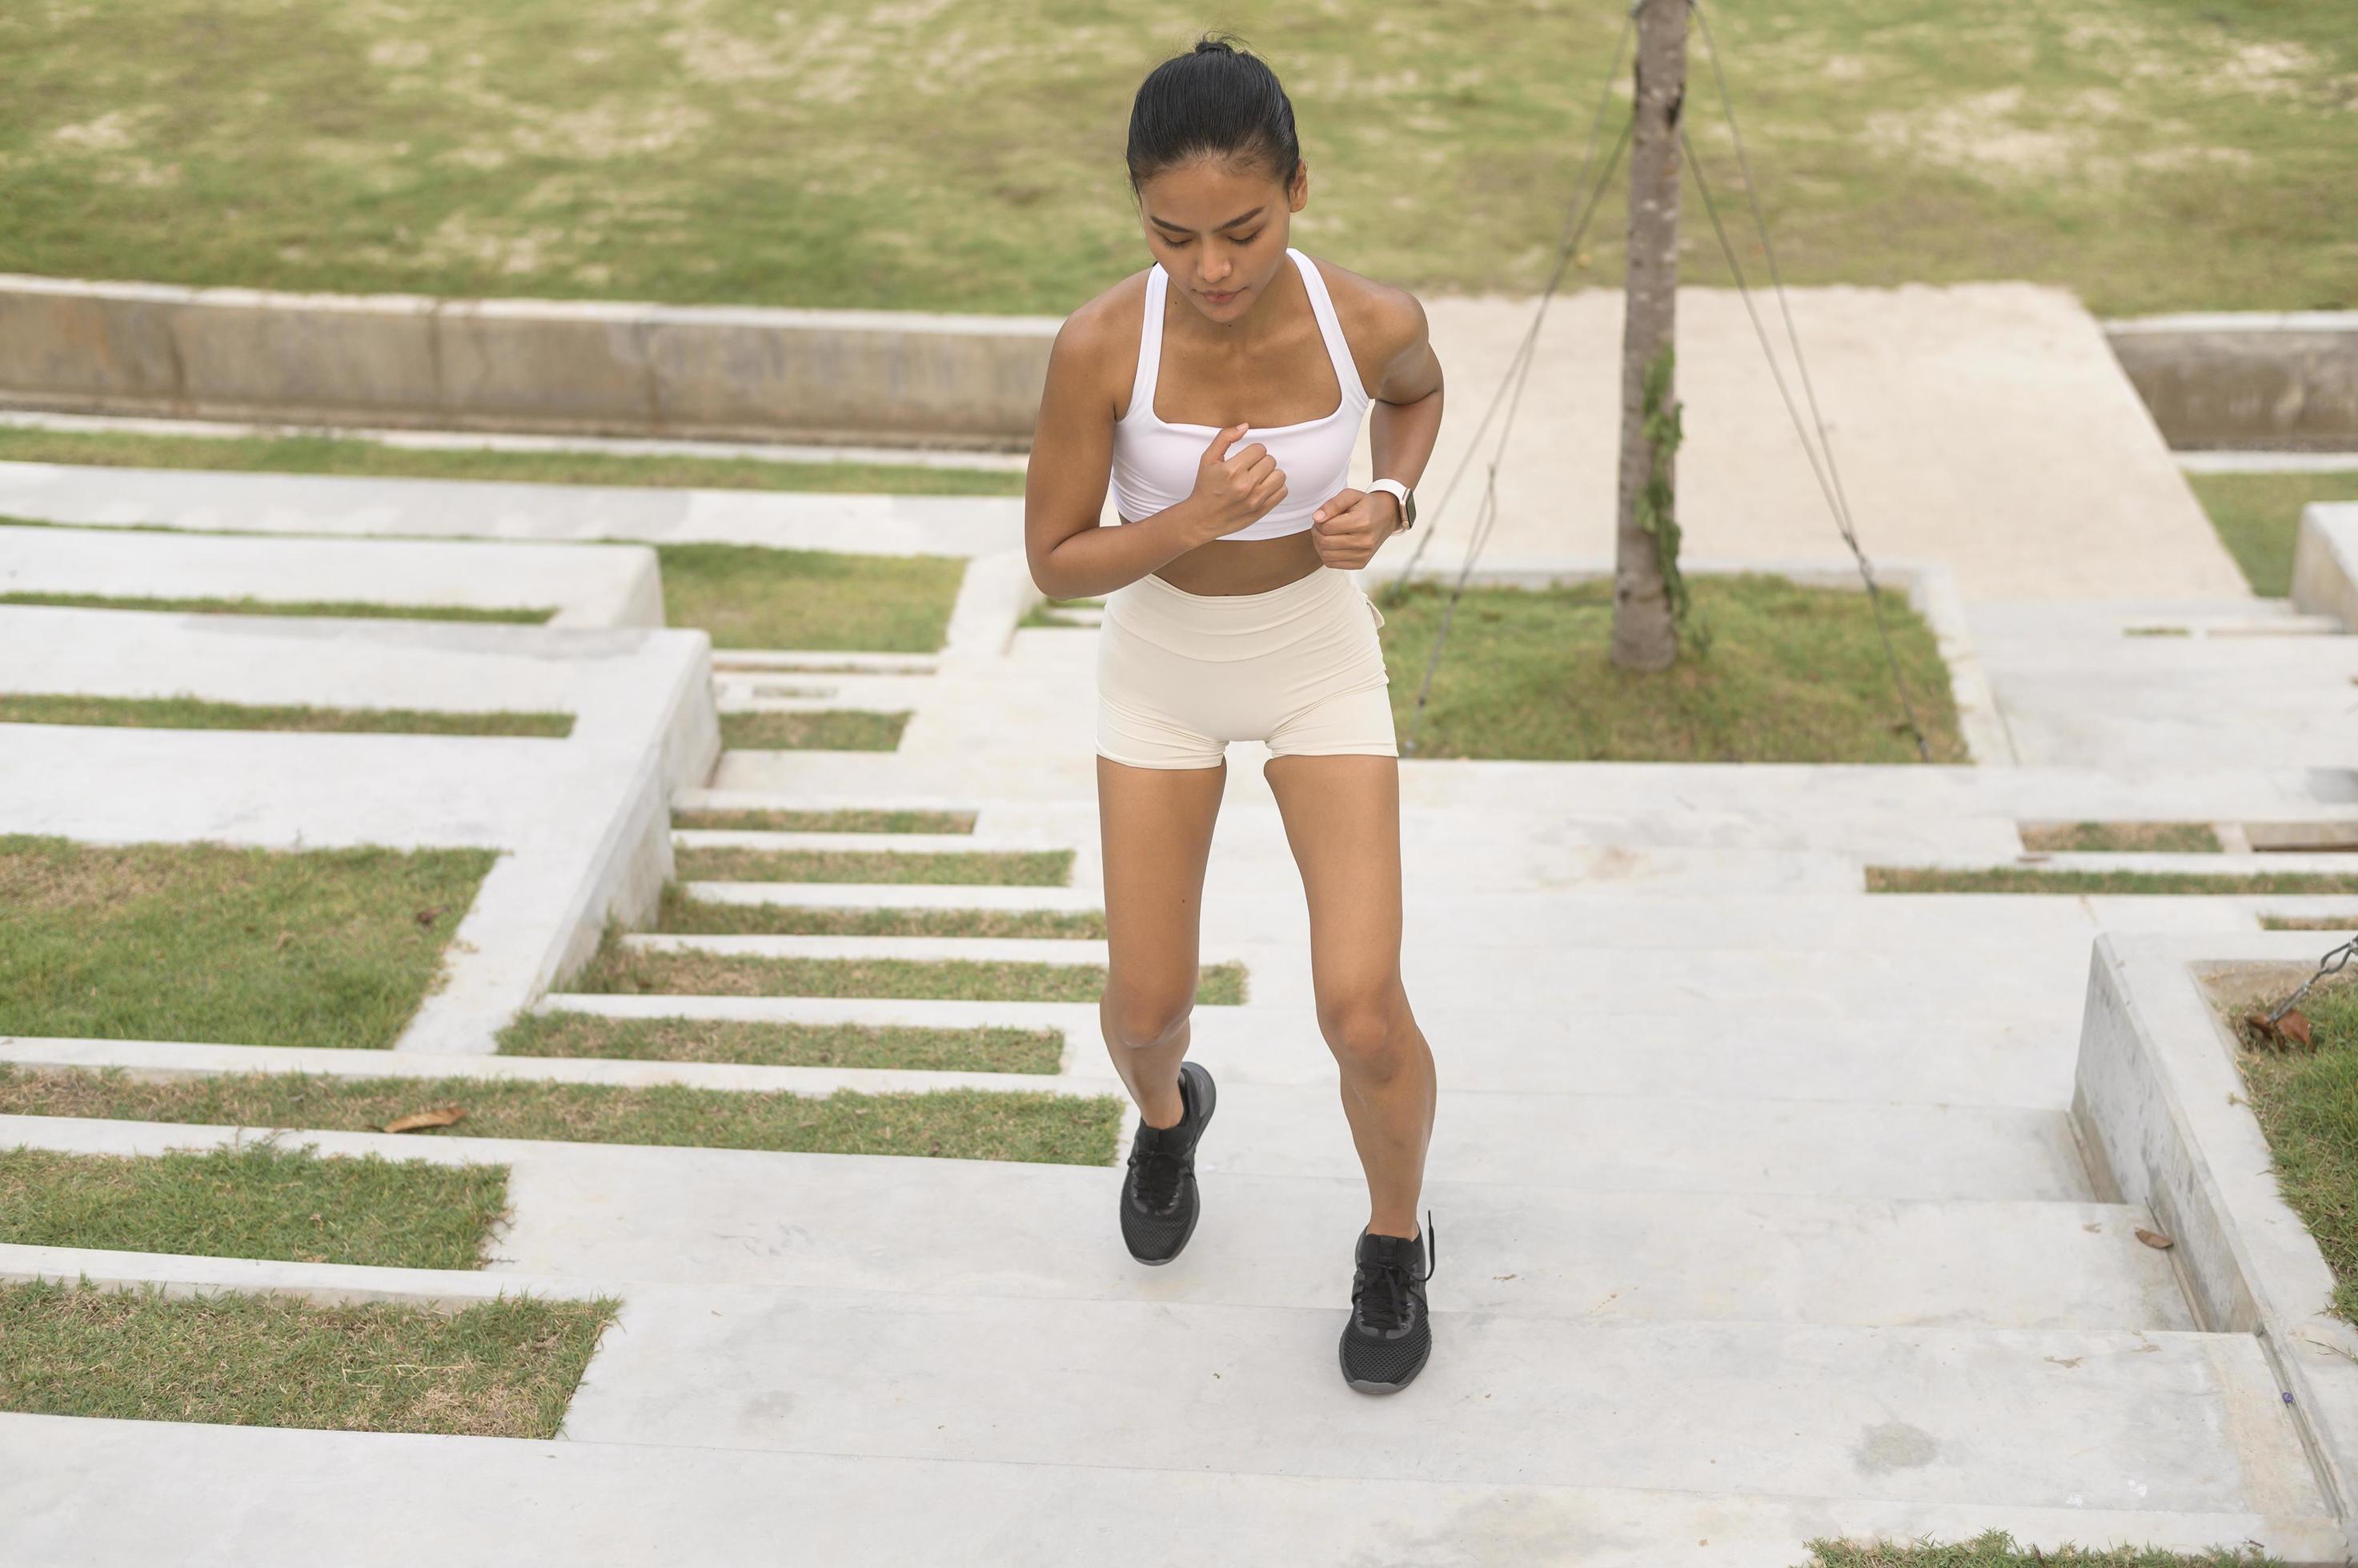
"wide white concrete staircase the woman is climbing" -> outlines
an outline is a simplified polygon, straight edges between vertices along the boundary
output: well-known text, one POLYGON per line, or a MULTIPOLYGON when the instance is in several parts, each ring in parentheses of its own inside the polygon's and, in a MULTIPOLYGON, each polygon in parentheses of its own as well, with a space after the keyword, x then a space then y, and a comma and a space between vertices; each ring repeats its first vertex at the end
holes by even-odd
MULTIPOLYGON (((1243 960, 1252 993, 1196 1019, 1221 1118, 1188 1252, 1129 1264, 1111 1170, 519 1148, 516 1269, 665 1285, 630 1292, 566 1436, 828 1467, 835 1509, 891 1493, 938 1549, 988 1554, 1016 1485, 1066 1509, 1026 1561, 1200 1561, 1174 1509, 1203 1488, 1254 1521, 1245 1561, 1785 1568, 1820 1533, 1993 1526, 2344 1561, 2257 1342, 2202 1332, 2169 1254, 2136 1238, 2143 1210, 2092 1186, 2066 1111, 2099 929, 2240 931, 2287 901, 1868 896, 1860 868, 2004 865, 2026 818, 2358 816, 2325 736, 2358 700, 2358 641, 2252 604, 1988 606, 1976 634, 2035 766, 1405 771, 1405 969, 1441 1111, 1436 1353, 1403 1396, 1335 1375, 1363 1193, 1299 882, 1257 747, 1236 747, 1205 962, 1243 960), (1391 1544, 1342 1549, 1335 1507, 1391 1544)), ((1094 908, 1094 811, 1071 773, 1092 651, 1087 630, 1019 632, 931 677, 896 755, 733 752, 717 790, 681 799, 967 806, 955 846, 1073 846, 1071 889, 689 891, 1094 908)), ((814 837, 847 844, 681 842, 814 837)), ((2205 858, 2257 863, 2283 858, 2205 858)), ((549 1007, 1059 1026, 1054 1087, 1118 1094, 1094 1007, 549 1007)))

